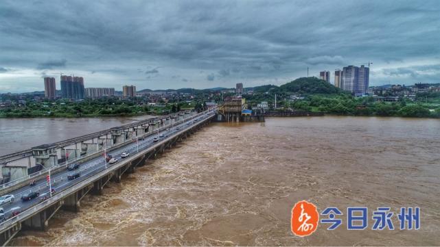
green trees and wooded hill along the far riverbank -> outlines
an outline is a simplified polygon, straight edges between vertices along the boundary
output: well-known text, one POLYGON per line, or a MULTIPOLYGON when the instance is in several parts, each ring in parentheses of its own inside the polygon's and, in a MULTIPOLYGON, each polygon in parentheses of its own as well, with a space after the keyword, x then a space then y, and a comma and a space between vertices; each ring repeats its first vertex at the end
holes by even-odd
MULTIPOLYGON (((440 118, 440 92, 416 94, 415 99, 400 97, 395 102, 376 101, 373 96, 355 97, 316 77, 303 77, 281 86, 264 85, 246 88, 244 93, 248 109, 262 101, 272 106, 267 111, 310 112, 331 116, 394 116, 415 118, 440 118), (275 105, 277 94, 277 109, 275 105)), ((182 89, 184 90, 184 89, 182 89)), ((186 92, 186 91, 185 91, 186 92)), ((0 108, 0 118, 95 118, 164 115, 183 109, 200 110, 205 102, 220 102, 234 96, 233 92, 220 90, 190 90, 186 101, 176 96, 165 102, 150 105, 141 97, 121 100, 117 97, 85 99, 83 101, 33 101, 27 99, 19 105, 0 108)))

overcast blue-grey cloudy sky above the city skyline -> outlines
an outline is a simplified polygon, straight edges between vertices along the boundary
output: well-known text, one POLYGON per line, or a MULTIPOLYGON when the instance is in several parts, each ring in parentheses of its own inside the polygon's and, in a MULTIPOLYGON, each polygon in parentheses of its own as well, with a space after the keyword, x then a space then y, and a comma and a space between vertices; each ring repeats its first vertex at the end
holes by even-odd
POLYGON ((281 85, 349 64, 370 84, 440 82, 440 2, 5 1, 0 92, 281 85))

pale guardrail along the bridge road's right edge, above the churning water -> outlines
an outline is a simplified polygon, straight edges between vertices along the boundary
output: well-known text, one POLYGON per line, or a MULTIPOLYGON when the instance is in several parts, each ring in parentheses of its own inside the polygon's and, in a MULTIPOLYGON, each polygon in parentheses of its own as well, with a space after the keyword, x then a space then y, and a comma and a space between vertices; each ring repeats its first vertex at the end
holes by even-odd
MULTIPOLYGON (((190 119, 193 119, 193 118, 196 118, 197 116, 203 115, 206 112, 209 112, 209 110, 202 112, 202 113, 199 113, 199 114, 196 114, 195 116, 192 116, 190 119)), ((205 119, 205 120, 207 120, 207 119, 205 119)), ((187 118, 185 118, 179 122, 184 122, 185 120, 187 120, 187 118)), ((203 121, 201 121, 201 122, 203 122, 203 121)), ((187 131, 187 129, 190 129, 190 128, 197 126, 199 124, 200 124, 200 122, 198 122, 196 125, 186 127, 184 129, 182 129, 181 131, 174 133, 174 135, 178 135, 179 133, 182 133, 183 131, 187 131)), ((163 128, 165 128, 165 127, 163 127, 163 128)), ((172 137, 170 136, 167 139, 162 140, 161 142, 170 140, 171 138, 172 137)), ((73 186, 68 187, 65 190, 62 190, 61 192, 57 192, 56 194, 54 194, 50 198, 47 198, 46 200, 44 200, 43 202, 40 202, 36 205, 32 205, 30 208, 25 209, 25 211, 22 211, 17 216, 13 216, 13 217, 9 218, 8 220, 1 222, 0 223, 0 232, 5 231, 5 229, 8 229, 10 226, 12 226, 13 224, 16 224, 17 222, 21 222, 23 220, 26 220, 27 218, 32 217, 34 215, 34 213, 45 209, 45 207, 49 207, 50 205, 56 203, 58 200, 61 200, 62 198, 69 196, 70 194, 75 193, 76 191, 80 190, 82 187, 85 187, 86 185, 93 183, 97 179, 104 177, 106 174, 113 172, 114 170, 116 170, 122 166, 126 166, 126 164, 129 161, 132 161, 132 160, 135 160, 135 159, 141 157, 141 155, 143 155, 144 152, 151 151, 153 148, 156 148, 157 146, 160 146, 160 145, 161 145, 161 143, 154 144, 154 145, 150 146, 150 148, 146 148, 146 150, 140 151, 136 155, 132 156, 130 159, 127 159, 126 161, 113 164, 112 166, 108 166, 108 167, 104 168, 104 170, 102 170, 101 172, 98 172, 97 174, 95 174, 89 178, 86 178, 83 181, 80 181, 79 183, 76 183, 73 186)))

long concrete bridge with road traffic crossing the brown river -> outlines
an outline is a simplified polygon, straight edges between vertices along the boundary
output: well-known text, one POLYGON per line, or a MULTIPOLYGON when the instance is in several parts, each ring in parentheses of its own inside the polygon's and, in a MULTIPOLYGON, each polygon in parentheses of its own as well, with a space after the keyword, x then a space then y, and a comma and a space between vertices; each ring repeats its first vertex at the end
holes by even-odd
POLYGON ((43 166, 43 170, 1 185, 0 195, 13 195, 14 201, 0 205, 3 209, 0 244, 7 245, 21 230, 45 230, 49 219, 60 209, 79 211, 80 201, 86 194, 102 194, 108 181, 119 183, 123 174, 135 172, 148 159, 154 159, 165 148, 171 148, 207 125, 215 118, 216 111, 213 108, 198 114, 181 112, 143 120, 0 157, 3 166, 21 161, 32 168, 32 159, 43 166), (130 155, 123 158, 122 153, 130 155), (117 162, 110 164, 104 155, 111 155, 117 162), (79 168, 68 170, 71 164, 79 164, 79 168), (80 177, 69 179, 69 175, 78 172, 80 177), (35 183, 31 186, 32 181, 35 183), (55 192, 51 193, 49 188, 55 192), (38 196, 21 200, 21 196, 30 192, 38 196))

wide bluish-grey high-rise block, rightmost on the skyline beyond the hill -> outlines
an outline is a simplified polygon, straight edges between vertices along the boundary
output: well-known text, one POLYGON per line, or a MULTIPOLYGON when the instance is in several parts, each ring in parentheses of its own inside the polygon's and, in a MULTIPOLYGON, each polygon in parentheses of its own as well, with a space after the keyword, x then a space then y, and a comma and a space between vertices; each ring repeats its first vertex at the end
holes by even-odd
POLYGON ((343 68, 342 88, 354 94, 365 94, 369 86, 370 70, 365 66, 347 66, 343 68))

